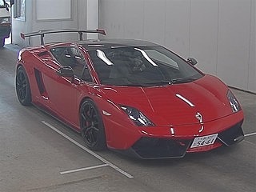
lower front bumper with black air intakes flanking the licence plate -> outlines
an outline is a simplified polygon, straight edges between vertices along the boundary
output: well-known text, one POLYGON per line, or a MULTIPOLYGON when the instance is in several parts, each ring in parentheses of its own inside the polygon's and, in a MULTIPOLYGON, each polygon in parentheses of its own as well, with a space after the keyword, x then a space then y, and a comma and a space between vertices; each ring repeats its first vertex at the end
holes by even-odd
POLYGON ((186 153, 202 152, 213 150, 219 146, 232 146, 241 142, 244 138, 242 131, 242 122, 231 126, 229 129, 218 133, 218 138, 213 145, 202 146, 198 148, 190 148, 192 139, 178 138, 150 138, 142 137, 134 143, 130 149, 126 150, 126 154, 138 158, 182 158, 186 153))

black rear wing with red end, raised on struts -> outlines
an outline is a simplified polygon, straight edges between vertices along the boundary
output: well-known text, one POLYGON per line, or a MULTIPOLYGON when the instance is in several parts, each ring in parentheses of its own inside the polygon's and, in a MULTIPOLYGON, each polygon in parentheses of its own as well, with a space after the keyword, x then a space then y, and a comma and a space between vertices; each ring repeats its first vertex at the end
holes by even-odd
POLYGON ((40 36, 41 39, 41 45, 44 45, 44 37, 45 34, 60 34, 60 33, 78 33, 79 34, 79 41, 82 41, 82 34, 103 34, 106 35, 105 30, 38 30, 37 32, 32 32, 30 34, 22 34, 21 33, 21 38, 25 39, 28 37, 33 37, 33 36, 40 36))

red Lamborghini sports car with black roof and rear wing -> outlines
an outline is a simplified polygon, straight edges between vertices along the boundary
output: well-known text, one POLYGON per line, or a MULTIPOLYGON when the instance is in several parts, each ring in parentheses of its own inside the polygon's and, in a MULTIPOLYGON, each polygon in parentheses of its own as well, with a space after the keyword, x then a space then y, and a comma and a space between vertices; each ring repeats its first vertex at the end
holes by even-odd
POLYGON ((19 102, 34 104, 82 134, 91 150, 138 158, 181 158, 242 141, 243 112, 231 90, 152 42, 82 40, 102 30, 42 30, 22 49, 19 102), (45 34, 77 32, 78 42, 44 44, 45 34))

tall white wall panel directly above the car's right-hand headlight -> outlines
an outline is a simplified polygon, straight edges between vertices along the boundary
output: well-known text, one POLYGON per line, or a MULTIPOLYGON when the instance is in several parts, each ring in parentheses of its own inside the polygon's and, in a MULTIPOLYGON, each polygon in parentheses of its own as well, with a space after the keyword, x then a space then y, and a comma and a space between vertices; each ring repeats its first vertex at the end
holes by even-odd
POLYGON ((247 87, 250 0, 219 2, 217 74, 230 86, 247 87))

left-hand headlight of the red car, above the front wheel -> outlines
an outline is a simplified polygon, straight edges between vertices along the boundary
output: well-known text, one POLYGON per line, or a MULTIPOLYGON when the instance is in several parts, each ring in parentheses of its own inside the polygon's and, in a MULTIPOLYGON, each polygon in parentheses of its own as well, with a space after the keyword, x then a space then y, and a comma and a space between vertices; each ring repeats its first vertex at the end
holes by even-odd
POLYGON ((130 106, 121 106, 121 108, 137 126, 154 126, 154 123, 139 110, 130 106))

